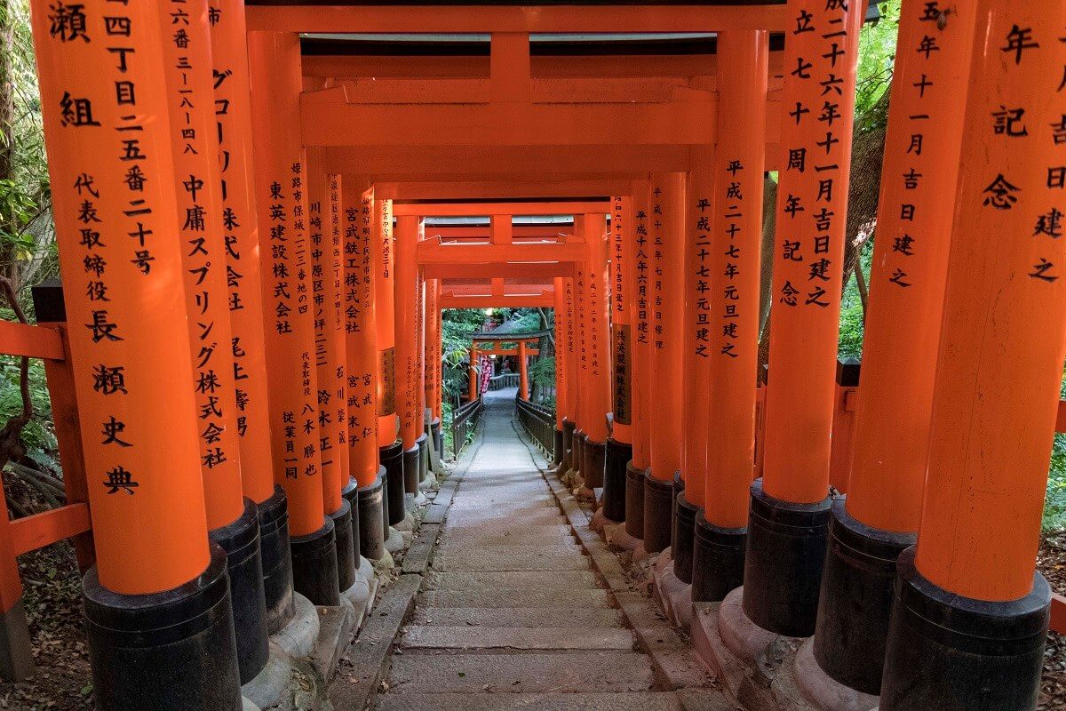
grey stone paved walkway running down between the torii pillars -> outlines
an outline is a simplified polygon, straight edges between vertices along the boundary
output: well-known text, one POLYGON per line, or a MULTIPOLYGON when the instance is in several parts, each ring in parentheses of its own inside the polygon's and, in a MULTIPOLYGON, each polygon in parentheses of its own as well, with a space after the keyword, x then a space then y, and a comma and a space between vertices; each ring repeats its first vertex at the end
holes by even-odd
POLYGON ((514 397, 486 395, 483 442, 375 708, 678 711, 515 433, 514 397))

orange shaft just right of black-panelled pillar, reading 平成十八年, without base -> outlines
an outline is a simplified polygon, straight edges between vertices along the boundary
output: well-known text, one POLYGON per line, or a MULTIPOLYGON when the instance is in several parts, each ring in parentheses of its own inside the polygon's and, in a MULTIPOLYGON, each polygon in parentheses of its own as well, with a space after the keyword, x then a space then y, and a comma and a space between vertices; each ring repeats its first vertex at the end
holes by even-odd
POLYGON ((652 341, 652 284, 655 264, 649 240, 651 222, 651 185, 646 180, 633 181, 633 233, 626 241, 623 259, 632 264, 630 301, 633 323, 632 358, 632 436, 633 467, 639 470, 651 466, 651 431, 648 397, 651 392, 652 341))

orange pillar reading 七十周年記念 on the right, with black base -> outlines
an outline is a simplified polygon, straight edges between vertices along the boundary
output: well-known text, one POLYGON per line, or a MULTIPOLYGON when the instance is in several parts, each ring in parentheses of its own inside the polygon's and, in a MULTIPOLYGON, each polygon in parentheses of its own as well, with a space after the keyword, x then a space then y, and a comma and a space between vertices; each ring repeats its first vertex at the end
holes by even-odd
POLYGON ((762 479, 752 485, 742 595, 744 614, 759 627, 809 636, 829 524, 855 64, 866 9, 790 0, 786 13, 802 31, 785 48, 765 453, 762 479))

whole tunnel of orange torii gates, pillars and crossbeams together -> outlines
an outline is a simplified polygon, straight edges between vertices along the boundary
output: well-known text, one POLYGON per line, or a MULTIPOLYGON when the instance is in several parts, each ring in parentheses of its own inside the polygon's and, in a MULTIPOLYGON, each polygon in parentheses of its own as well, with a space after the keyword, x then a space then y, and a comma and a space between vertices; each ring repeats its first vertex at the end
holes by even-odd
POLYGON ((14 555, 78 535, 97 707, 240 709, 293 592, 337 604, 431 479, 441 309, 536 306, 561 471, 694 600, 882 711, 1035 706, 1066 4, 903 1, 831 482, 865 4, 31 5, 62 284, 3 333, 84 476, 5 529, 10 676, 14 555))

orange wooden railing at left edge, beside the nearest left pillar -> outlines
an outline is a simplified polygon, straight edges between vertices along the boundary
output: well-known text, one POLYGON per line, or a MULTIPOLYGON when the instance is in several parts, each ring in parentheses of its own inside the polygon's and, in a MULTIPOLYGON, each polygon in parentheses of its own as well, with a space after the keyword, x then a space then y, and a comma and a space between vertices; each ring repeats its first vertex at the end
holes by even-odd
MULTIPOLYGON (((88 490, 85 484, 85 462, 82 452, 78 404, 70 370, 66 325, 41 323, 28 325, 0 321, 0 354, 41 358, 45 365, 59 458, 63 469, 66 504, 32 516, 9 520, 7 502, 0 496, 0 610, 7 615, 21 600, 22 581, 18 573, 18 556, 54 543, 74 538, 78 565, 90 568, 96 556, 91 535, 88 490)), ((2 424, 2 423, 0 423, 2 424)), ((6 463, 0 463, 3 465, 6 463)), ((25 625, 25 615, 9 616, 7 625, 25 625)), ((29 633, 13 634, 9 629, 2 644, 29 645, 29 633)), ((32 659, 32 650, 12 648, 12 657, 32 659), (25 657, 23 657, 25 655, 25 657)), ((14 672, 5 669, 15 676, 14 672)))

